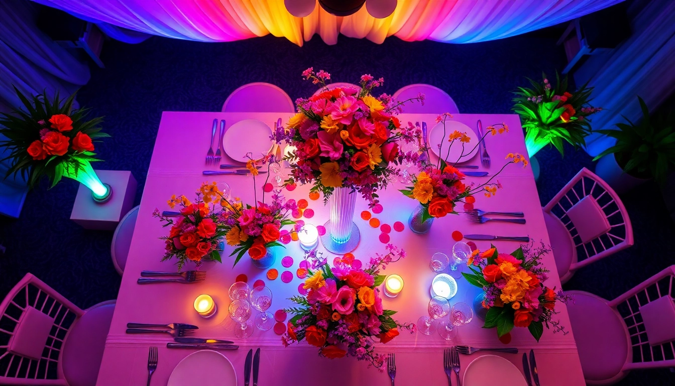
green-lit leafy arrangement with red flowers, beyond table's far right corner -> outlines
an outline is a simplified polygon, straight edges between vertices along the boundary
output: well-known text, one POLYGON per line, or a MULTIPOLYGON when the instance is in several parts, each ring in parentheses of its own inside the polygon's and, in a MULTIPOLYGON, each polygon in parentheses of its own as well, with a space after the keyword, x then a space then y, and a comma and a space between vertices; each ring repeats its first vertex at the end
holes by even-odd
POLYGON ((575 148, 585 145, 591 133, 591 114, 601 111, 589 105, 593 87, 583 85, 577 91, 568 91, 567 76, 560 80, 556 74, 556 87, 543 74, 543 82, 529 79, 531 88, 518 87, 516 103, 512 110, 520 116, 525 129, 525 144, 530 157, 548 144, 563 154, 563 140, 575 148))

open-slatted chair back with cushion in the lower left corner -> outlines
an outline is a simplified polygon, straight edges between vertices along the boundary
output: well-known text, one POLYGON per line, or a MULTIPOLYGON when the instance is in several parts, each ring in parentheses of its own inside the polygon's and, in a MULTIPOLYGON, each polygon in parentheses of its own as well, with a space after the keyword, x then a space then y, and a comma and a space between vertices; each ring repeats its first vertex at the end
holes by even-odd
POLYGON ((0 385, 65 385, 61 349, 78 306, 28 273, 0 304, 0 385))

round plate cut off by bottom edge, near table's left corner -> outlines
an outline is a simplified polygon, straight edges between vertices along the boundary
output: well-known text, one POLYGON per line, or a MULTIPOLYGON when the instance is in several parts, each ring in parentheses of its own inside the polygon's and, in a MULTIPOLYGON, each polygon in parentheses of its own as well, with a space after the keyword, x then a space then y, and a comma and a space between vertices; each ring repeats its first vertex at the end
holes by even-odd
POLYGON ((167 386, 237 386, 237 373, 223 354, 202 349, 175 366, 167 386))

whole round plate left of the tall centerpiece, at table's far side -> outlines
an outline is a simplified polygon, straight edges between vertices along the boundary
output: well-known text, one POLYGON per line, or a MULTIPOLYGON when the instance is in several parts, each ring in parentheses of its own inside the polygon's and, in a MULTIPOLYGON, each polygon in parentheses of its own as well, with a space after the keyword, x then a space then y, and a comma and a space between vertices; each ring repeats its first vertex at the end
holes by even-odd
POLYGON ((238 162, 246 162, 246 153, 251 153, 254 160, 263 158, 272 149, 269 136, 272 130, 265 122, 257 119, 240 120, 229 126, 223 135, 223 149, 229 158, 238 162))

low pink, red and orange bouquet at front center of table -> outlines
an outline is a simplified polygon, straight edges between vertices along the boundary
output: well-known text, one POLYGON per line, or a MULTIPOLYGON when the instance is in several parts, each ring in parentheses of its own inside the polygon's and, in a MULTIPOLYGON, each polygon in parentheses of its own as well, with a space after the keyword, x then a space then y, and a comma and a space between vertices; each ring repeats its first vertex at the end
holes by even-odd
POLYGON ((320 253, 310 252, 306 258, 311 269, 303 285, 308 293, 290 298, 300 307, 286 310, 295 316, 288 322, 288 333, 281 337, 284 346, 304 339, 319 347, 319 356, 333 359, 349 355, 381 368, 385 356, 375 353, 373 337, 387 343, 399 335, 399 329, 416 331, 412 323, 396 322, 391 317, 396 311, 382 307, 376 287, 385 275, 379 272, 406 255, 391 244, 386 250, 386 254, 371 258, 365 269, 352 265, 352 254, 336 258, 331 268, 320 253))

